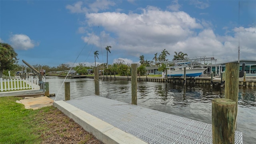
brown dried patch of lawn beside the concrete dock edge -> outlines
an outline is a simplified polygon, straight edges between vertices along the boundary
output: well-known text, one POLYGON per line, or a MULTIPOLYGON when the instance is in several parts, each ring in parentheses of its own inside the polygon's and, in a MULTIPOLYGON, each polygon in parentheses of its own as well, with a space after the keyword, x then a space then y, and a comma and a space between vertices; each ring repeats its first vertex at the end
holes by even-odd
POLYGON ((39 114, 49 128, 41 134, 42 144, 103 144, 54 106, 50 112, 40 110, 39 114))

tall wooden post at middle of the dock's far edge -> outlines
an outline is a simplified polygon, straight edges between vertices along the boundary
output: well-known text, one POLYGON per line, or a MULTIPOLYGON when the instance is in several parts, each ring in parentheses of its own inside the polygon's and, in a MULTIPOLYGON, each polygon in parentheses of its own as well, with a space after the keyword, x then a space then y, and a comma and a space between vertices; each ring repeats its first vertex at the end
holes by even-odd
POLYGON ((132 64, 132 104, 137 105, 137 64, 132 64))

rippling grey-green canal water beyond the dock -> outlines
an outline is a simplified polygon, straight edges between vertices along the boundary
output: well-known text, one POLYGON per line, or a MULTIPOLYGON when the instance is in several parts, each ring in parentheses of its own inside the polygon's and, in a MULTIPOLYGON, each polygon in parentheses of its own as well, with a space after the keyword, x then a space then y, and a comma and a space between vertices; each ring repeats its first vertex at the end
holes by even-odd
MULTIPOLYGON (((64 78, 46 77, 50 94, 64 100, 64 78), (63 84, 63 85, 62 85, 63 84)), ((66 79, 70 82, 70 98, 95 94, 94 79, 66 79)), ((209 84, 172 84, 138 82, 137 105, 192 120, 212 124, 212 99, 224 98, 225 88, 209 84)), ((131 81, 100 80, 100 96, 131 103, 131 81)), ((243 144, 256 144, 256 89, 240 87, 237 130, 243 133, 243 144)))

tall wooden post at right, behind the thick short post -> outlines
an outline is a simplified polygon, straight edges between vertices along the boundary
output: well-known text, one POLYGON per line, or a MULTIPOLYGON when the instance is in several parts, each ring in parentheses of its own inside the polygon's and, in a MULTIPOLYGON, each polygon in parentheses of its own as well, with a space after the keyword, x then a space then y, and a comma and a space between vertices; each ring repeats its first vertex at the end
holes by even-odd
MULTIPOLYGON (((238 90, 239 90, 239 63, 226 64, 226 80, 225 80, 225 98, 234 100, 235 118, 237 118, 238 109, 238 90)), ((236 121, 236 119, 235 119, 236 121)))

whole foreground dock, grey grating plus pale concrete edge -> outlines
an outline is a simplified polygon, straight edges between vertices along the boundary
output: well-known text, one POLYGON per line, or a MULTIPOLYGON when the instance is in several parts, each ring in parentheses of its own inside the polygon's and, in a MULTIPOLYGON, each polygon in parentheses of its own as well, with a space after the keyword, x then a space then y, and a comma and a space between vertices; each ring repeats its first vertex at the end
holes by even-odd
MULTIPOLYGON (((101 96, 54 106, 106 144, 212 144, 211 124, 101 96)), ((235 144, 242 144, 242 132, 235 131, 235 144)))

